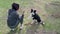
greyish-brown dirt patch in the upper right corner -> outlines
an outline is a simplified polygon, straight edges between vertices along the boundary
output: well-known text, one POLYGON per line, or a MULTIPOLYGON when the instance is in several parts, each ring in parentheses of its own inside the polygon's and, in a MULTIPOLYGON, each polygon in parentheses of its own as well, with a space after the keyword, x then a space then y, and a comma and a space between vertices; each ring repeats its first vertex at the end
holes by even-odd
POLYGON ((55 18, 60 18, 60 2, 52 1, 46 4, 45 9, 55 18))

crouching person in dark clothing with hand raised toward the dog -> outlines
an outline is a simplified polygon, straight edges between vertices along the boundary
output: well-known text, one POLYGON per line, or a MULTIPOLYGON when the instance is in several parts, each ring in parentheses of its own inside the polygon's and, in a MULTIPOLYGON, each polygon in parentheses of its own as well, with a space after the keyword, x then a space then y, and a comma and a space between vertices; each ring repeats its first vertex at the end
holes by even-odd
POLYGON ((15 28, 18 26, 19 22, 21 23, 21 29, 23 24, 23 18, 24 18, 24 12, 22 16, 19 16, 17 11, 19 10, 19 4, 13 3, 12 8, 8 11, 8 19, 7 19, 7 25, 11 30, 15 30, 15 28))

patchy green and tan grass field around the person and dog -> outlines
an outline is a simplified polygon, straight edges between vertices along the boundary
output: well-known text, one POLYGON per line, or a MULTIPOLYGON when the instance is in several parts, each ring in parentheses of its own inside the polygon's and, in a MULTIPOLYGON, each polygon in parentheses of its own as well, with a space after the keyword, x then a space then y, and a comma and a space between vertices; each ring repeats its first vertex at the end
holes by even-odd
MULTIPOLYGON (((28 19, 30 9, 36 9, 41 19, 44 21, 45 26, 27 25, 24 26, 23 30, 16 31, 16 34, 28 34, 30 30, 41 30, 45 32, 54 32, 60 34, 60 0, 0 0, 0 34, 12 34, 9 27, 7 26, 6 18, 7 11, 11 8, 13 2, 20 4, 19 14, 25 11, 24 24, 31 23, 31 19, 28 19), (57 14, 57 15, 56 15, 57 14), (53 15, 53 16, 51 16, 53 15), (56 18, 57 17, 57 18, 56 18), (28 33, 27 33, 28 32, 28 33)), ((40 31, 39 31, 40 32, 40 31)), ((46 34, 51 34, 46 33, 46 34)), ((33 34, 33 33, 30 33, 33 34)), ((38 34, 38 33, 37 33, 38 34)), ((42 34, 42 33, 40 33, 42 34)))

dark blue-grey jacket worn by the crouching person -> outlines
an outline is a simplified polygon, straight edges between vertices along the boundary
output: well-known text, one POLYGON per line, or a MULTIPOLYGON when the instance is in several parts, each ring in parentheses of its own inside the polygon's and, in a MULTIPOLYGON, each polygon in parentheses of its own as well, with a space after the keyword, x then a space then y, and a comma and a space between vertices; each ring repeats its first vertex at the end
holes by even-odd
POLYGON ((23 22, 23 17, 24 17, 24 15, 19 17, 19 15, 17 14, 17 11, 15 11, 14 9, 9 9, 9 11, 8 11, 8 19, 7 19, 8 26, 10 28, 17 27, 19 22, 21 22, 21 23, 23 22))

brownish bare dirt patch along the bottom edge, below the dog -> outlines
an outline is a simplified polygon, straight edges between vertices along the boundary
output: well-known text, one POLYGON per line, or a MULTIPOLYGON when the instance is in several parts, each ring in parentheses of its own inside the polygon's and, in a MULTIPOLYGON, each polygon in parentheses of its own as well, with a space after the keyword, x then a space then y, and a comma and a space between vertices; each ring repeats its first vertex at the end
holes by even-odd
POLYGON ((31 25, 27 31, 26 31, 26 34, 56 34, 56 31, 46 31, 44 28, 40 28, 39 29, 39 26, 40 25, 36 25, 36 24, 33 24, 31 25))

